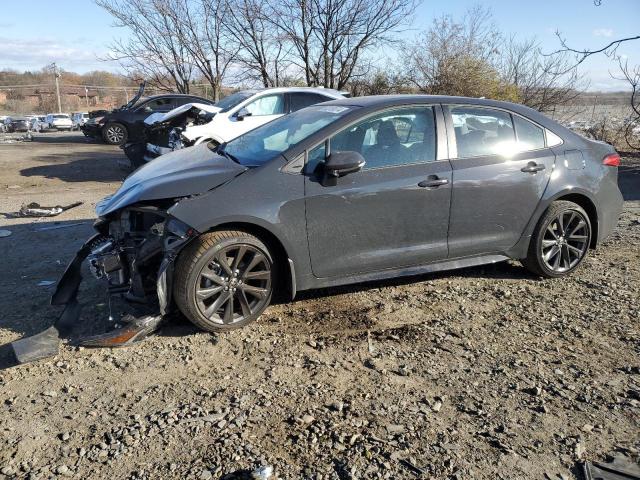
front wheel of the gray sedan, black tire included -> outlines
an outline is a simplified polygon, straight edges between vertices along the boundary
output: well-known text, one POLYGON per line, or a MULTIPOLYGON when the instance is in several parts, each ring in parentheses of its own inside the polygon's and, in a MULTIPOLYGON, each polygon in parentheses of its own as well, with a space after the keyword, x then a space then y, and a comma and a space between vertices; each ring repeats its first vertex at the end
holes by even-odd
POLYGON ((276 285, 275 276, 273 257, 257 237, 236 230, 205 233, 188 245, 176 260, 174 298, 180 311, 203 330, 235 330, 256 320, 269 306, 276 285), (238 253, 240 249, 244 249, 242 254, 238 253), (236 255, 230 265, 228 255, 234 251, 236 255), (222 258, 227 260, 226 269, 222 258), (252 267, 255 261, 258 263, 252 267), (236 263, 238 268, 234 270, 236 263), (256 271, 256 268, 262 270, 256 271), (254 278, 256 275, 260 278, 254 278), (211 293, 216 289, 222 290, 211 293), (209 297, 202 297, 207 294, 209 297), (231 301, 222 301, 225 296, 231 301), (222 303, 216 306, 219 301, 222 303))

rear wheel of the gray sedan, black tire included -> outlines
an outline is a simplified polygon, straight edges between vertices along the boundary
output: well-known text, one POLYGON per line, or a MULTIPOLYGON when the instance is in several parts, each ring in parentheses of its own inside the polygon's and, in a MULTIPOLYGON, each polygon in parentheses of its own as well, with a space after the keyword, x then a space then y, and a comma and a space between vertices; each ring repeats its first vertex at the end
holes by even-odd
POLYGON ((587 257, 591 235, 589 215, 580 205, 553 202, 538 221, 522 264, 541 277, 564 277, 587 257))

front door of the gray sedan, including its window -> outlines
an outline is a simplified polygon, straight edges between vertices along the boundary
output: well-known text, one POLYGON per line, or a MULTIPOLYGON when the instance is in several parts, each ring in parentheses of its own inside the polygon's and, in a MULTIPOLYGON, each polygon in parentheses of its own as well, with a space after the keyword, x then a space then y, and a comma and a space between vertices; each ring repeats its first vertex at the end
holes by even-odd
POLYGON ((388 110, 308 153, 307 236, 313 273, 342 277, 447 257, 451 167, 436 160, 434 109, 388 110), (357 151, 364 168, 318 182, 326 151, 357 151), (313 173, 316 172, 316 173, 313 173))

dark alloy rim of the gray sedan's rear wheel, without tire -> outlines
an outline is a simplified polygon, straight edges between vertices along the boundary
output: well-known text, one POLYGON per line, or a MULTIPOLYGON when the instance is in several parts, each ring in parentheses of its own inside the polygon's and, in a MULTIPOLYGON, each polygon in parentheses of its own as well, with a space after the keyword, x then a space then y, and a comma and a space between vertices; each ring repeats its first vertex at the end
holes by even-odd
POLYGON ((571 270, 589 248, 589 223, 582 213, 565 210, 549 222, 542 237, 542 260, 553 272, 571 270))

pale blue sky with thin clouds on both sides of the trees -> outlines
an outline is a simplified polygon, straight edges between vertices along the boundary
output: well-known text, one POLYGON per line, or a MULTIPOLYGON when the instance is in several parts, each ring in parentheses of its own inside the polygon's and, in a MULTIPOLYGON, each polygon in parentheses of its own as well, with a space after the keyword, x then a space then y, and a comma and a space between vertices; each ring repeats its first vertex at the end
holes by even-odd
MULTIPOLYGON (((423 0, 409 31, 411 35, 430 26, 434 18, 451 14, 461 18, 478 0, 423 0)), ((559 30, 569 45, 598 48, 616 38, 640 33, 640 0, 485 0, 497 26, 507 35, 537 37, 545 51, 559 47, 559 30)), ((114 38, 127 32, 113 26, 113 19, 91 0, 29 0, 3 2, 0 15, 0 69, 37 70, 56 62, 64 70, 119 71, 115 62, 101 60, 114 38)), ((640 64, 640 40, 621 46, 630 64, 640 64)), ((581 66, 590 90, 620 90, 624 82, 612 80, 617 66, 604 55, 581 66)))

